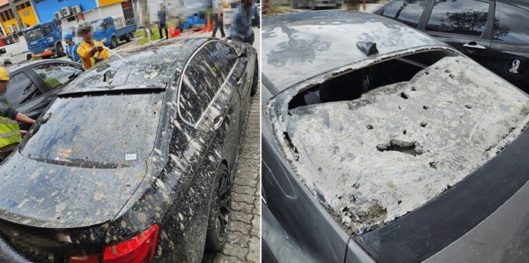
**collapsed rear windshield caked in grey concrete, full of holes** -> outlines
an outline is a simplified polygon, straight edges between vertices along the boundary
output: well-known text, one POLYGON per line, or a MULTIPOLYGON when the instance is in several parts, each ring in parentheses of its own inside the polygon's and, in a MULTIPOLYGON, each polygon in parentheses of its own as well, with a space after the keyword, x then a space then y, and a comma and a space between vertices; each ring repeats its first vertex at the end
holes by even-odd
POLYGON ((517 138, 529 98, 449 50, 342 67, 267 103, 304 185, 352 234, 421 207, 517 138))

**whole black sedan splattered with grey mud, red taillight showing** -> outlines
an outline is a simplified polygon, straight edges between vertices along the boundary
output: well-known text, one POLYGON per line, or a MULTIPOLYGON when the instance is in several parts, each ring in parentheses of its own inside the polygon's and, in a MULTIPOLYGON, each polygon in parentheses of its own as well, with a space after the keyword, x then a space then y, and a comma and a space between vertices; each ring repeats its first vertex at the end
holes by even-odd
POLYGON ((220 250, 256 50, 212 39, 112 56, 0 167, 0 261, 200 262, 220 250))

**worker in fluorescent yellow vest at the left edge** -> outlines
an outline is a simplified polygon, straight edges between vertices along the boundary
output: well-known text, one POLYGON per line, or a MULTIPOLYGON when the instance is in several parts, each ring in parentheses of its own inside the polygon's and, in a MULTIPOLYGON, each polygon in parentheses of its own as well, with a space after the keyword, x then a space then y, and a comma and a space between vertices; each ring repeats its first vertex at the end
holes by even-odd
POLYGON ((0 67, 0 161, 6 160, 14 149, 17 149, 23 135, 28 131, 21 131, 19 123, 35 123, 35 120, 21 114, 11 107, 6 98, 8 91, 9 73, 6 67, 0 67))

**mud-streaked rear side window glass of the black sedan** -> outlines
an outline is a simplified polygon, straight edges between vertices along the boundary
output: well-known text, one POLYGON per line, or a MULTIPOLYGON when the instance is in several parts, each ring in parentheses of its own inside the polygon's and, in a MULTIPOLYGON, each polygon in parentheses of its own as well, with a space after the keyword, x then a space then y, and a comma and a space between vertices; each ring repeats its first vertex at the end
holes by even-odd
POLYGON ((218 74, 222 71, 222 65, 211 62, 213 50, 215 47, 210 44, 200 49, 183 76, 178 107, 184 120, 189 123, 195 124, 200 120, 224 82, 222 74, 218 74))

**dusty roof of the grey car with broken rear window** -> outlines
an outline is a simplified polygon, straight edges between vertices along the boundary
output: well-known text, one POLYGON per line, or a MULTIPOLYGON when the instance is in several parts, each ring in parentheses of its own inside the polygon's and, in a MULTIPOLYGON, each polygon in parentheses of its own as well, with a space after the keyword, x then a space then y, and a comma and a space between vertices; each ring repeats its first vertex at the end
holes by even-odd
POLYGON ((357 11, 319 11, 264 17, 263 73, 279 90, 307 78, 401 50, 446 44, 397 21, 357 11), (375 42, 366 56, 357 41, 375 42))

